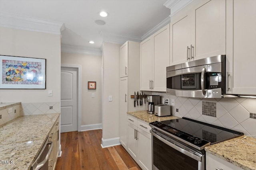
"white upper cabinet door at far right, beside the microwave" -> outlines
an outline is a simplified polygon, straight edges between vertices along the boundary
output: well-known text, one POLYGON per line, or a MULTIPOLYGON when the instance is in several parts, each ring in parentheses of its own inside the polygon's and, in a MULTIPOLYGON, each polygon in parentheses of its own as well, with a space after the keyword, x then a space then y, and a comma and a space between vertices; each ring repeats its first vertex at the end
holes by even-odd
POLYGON ((256 95, 256 1, 227 1, 226 94, 256 95))

